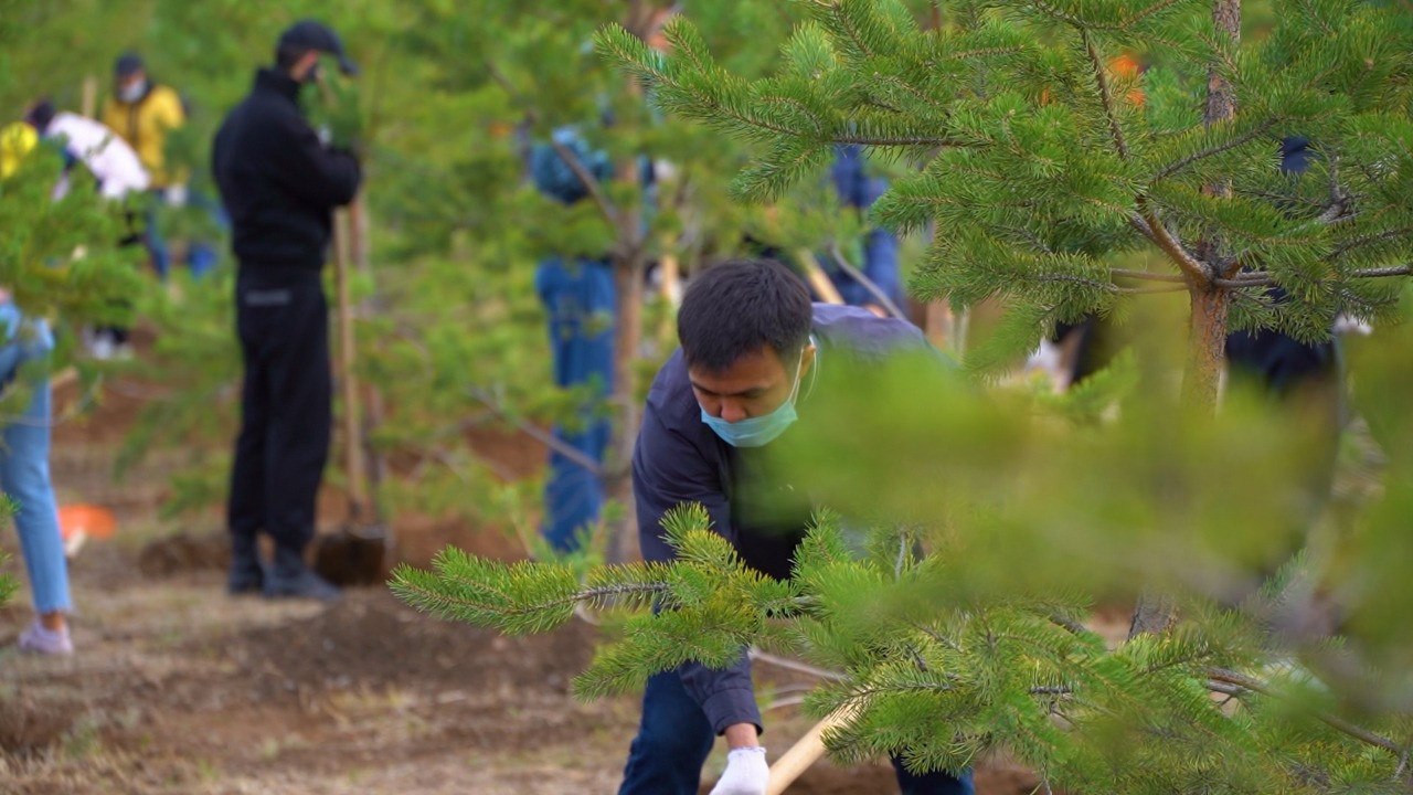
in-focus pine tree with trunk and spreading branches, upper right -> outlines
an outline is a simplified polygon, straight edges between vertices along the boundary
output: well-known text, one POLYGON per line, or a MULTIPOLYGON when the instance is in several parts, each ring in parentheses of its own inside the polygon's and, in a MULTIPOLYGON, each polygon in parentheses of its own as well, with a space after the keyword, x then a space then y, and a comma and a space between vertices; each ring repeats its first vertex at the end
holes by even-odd
MULTIPOLYGON (((1381 277, 1410 274, 1407 37, 1390 13, 1276 3, 1276 31, 1242 44, 1239 0, 959 3, 959 24, 926 33, 901 3, 805 6, 767 81, 731 79, 685 27, 677 59, 602 41, 664 106, 767 149, 745 198, 836 141, 926 163, 875 212, 935 225, 920 296, 1007 304, 992 356, 1171 284, 1191 307, 1183 389, 1210 409, 1231 331, 1324 338, 1340 313, 1379 318, 1400 287, 1381 277), (1142 85, 1112 68, 1133 48, 1163 52, 1142 85), (1318 153, 1299 180, 1273 166, 1297 136, 1318 153), (1115 266, 1142 253, 1166 267, 1115 266)), ((1171 620, 1146 600, 1135 631, 1171 620)))

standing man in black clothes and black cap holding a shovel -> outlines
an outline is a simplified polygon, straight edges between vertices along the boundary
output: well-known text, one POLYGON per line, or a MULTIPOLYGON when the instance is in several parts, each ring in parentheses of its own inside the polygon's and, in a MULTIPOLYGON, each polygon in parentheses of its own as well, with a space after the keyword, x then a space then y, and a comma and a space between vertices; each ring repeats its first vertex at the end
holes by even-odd
POLYGON ((321 55, 356 74, 338 35, 315 21, 284 31, 276 64, 216 133, 212 167, 230 214, 236 328, 244 359, 240 436, 230 477, 230 593, 338 598, 304 560, 329 454, 332 375, 319 272, 333 209, 357 192, 355 156, 325 146, 300 112, 321 55), (266 567, 256 536, 274 539, 266 567))

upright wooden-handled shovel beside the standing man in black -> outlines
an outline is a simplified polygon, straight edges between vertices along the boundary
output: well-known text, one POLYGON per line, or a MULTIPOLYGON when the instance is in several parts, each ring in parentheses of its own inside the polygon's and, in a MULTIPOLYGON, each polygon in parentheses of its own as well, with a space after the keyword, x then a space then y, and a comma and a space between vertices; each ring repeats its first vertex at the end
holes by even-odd
POLYGON ((382 583, 386 576, 384 563, 393 546, 393 533, 382 522, 367 485, 359 383, 353 372, 353 307, 349 300, 348 240, 362 240, 362 199, 355 198, 346 212, 336 214, 333 229, 333 283, 338 303, 335 317, 343 393, 343 463, 349 512, 343 526, 314 540, 314 570, 341 587, 382 583))

